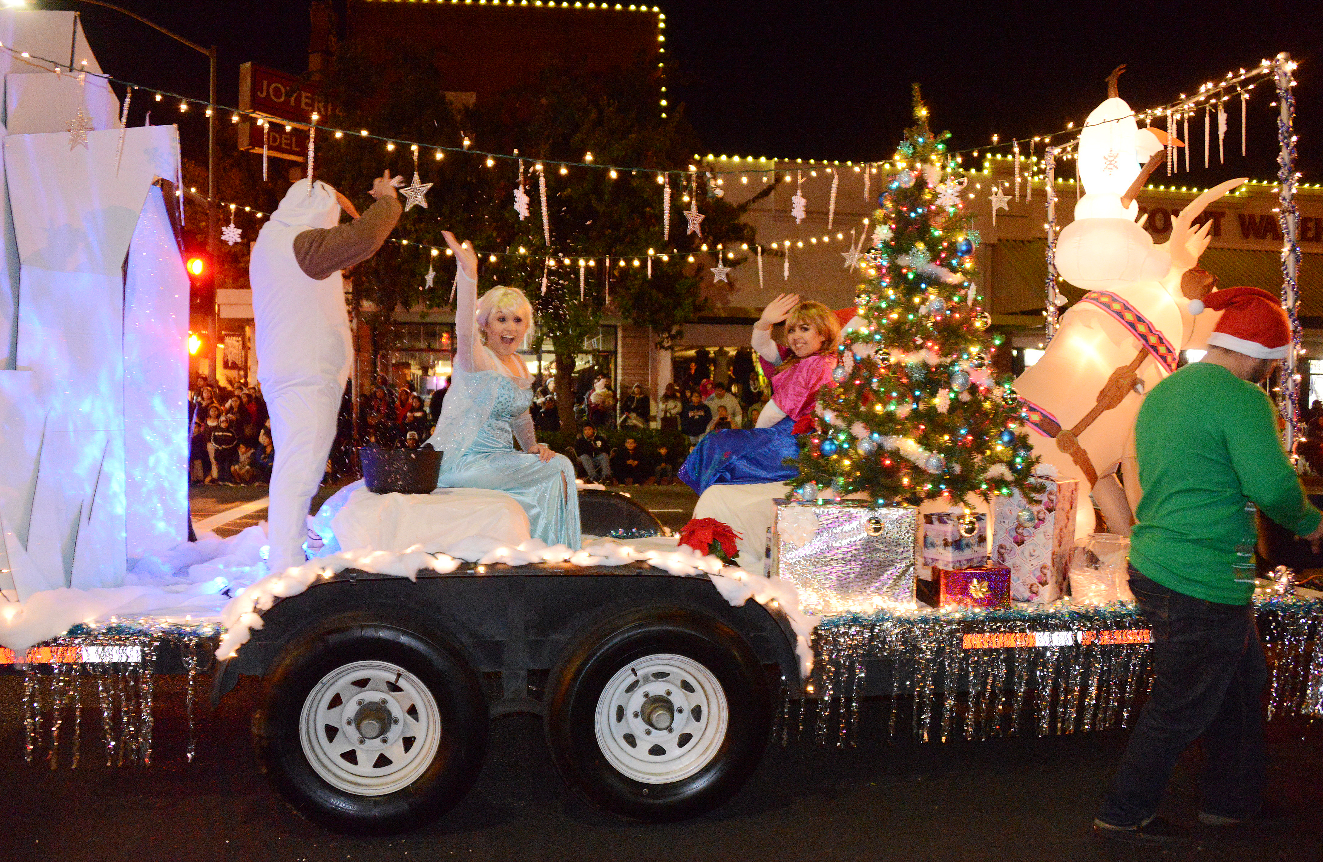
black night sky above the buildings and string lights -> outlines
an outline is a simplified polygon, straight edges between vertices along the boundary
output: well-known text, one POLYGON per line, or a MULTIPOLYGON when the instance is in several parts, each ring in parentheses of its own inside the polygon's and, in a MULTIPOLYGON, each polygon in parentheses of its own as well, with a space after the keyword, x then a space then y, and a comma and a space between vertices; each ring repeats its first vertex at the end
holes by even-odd
MULTIPOLYGON (((102 66, 147 86, 206 95, 206 58, 136 21, 77 3, 102 66)), ((238 65, 288 72, 307 65, 307 3, 298 0, 120 0, 120 5, 204 45, 220 46, 220 93, 235 103, 238 65)), ((909 85, 923 86, 954 148, 1057 131, 1080 123, 1129 64, 1121 94, 1144 109, 1200 82, 1290 52, 1304 181, 1323 181, 1323 105, 1316 98, 1319 7, 1311 3, 984 3, 890 4, 816 0, 671 0, 671 95, 687 106, 709 152, 804 159, 882 159, 909 120, 909 85)), ((587 13, 587 12, 585 12, 587 13)), ((441 87, 443 89, 443 87, 441 87)), ((1270 89, 1250 102, 1250 155, 1179 181, 1211 185, 1275 176, 1270 89)), ((672 102, 673 103, 673 102, 672 102)), ((1238 139, 1238 106, 1230 138, 1238 139)), ((169 122, 175 122, 171 117, 169 122)), ((159 122, 153 118, 153 122, 159 122)), ((193 115, 181 120, 202 127, 193 115)), ((1201 152, 1203 126, 1192 136, 1201 152)), ((205 138, 185 128, 185 150, 205 138)), ((1228 140, 1228 148, 1232 143, 1228 140)), ((200 158, 201 152, 185 152, 200 158)), ((1197 159, 1201 162, 1201 158, 1197 159)))

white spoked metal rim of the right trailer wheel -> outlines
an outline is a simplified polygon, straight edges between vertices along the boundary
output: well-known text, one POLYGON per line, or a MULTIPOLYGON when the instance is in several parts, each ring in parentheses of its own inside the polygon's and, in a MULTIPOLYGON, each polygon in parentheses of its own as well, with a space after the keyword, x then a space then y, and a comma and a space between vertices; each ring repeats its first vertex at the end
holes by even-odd
POLYGON ((643 784, 671 784, 712 763, 729 720, 726 693, 710 670, 660 653, 611 677, 598 696, 594 726, 597 744, 617 771, 643 784), (669 724, 659 727, 667 723, 667 704, 669 724))

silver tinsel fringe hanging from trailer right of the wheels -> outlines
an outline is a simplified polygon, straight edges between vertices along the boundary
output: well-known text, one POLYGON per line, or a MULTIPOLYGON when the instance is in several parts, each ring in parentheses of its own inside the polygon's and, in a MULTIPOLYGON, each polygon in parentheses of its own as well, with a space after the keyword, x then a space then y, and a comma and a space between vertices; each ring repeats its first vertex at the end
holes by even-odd
MULTIPOLYGON (((1256 608, 1271 673, 1267 716, 1323 716, 1323 649, 1315 647, 1323 637, 1323 601, 1271 597, 1256 608)), ((1099 636, 1146 628, 1135 608, 1122 604, 828 617, 814 634, 818 662, 810 695, 799 704, 799 732, 790 727, 787 698, 778 738, 782 744, 802 739, 807 724, 818 744, 857 744, 867 663, 885 667, 890 678, 881 691, 869 689, 890 696, 888 738, 896 735, 905 702, 922 742, 1129 727, 1151 685, 1150 647, 1099 636), (978 647, 970 640, 1024 642, 1035 633, 1040 644, 1050 644, 978 647)))

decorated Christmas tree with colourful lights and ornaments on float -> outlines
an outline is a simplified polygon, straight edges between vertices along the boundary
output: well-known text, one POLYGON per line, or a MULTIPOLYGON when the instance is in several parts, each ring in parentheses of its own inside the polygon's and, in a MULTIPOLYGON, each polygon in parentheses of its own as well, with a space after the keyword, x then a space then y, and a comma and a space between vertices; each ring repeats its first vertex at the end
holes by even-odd
POLYGON ((803 499, 826 489, 878 503, 1036 497, 1027 481, 1037 458, 1012 380, 992 376, 979 234, 949 136, 929 130, 916 85, 914 126, 873 217, 869 281, 856 297, 863 326, 844 332, 835 384, 819 391, 816 430, 802 438, 803 499))

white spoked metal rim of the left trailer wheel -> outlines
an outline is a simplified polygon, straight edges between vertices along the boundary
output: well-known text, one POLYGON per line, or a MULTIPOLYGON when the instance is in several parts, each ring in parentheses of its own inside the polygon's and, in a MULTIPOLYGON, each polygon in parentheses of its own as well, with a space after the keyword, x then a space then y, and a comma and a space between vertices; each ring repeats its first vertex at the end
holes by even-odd
POLYGON ((303 753, 319 776, 355 796, 409 787, 441 742, 437 700, 390 662, 343 665, 321 678, 299 716, 303 753))

